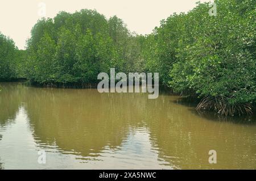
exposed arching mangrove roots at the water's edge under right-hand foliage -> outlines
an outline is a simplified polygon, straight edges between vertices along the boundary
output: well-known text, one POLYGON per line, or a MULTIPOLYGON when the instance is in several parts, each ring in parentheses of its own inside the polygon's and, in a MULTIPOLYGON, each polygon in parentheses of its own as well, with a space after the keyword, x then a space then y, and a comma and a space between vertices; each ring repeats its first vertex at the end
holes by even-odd
POLYGON ((251 115, 253 106, 249 103, 230 104, 225 96, 207 96, 197 105, 196 110, 214 110, 225 116, 251 115))

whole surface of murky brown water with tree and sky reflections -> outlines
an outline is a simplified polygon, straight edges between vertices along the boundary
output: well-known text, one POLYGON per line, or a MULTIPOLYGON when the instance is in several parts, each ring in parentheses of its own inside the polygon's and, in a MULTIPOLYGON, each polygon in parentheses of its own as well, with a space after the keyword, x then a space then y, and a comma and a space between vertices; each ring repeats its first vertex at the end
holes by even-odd
POLYGON ((256 169, 255 117, 198 113, 164 92, 0 87, 2 169, 256 169))

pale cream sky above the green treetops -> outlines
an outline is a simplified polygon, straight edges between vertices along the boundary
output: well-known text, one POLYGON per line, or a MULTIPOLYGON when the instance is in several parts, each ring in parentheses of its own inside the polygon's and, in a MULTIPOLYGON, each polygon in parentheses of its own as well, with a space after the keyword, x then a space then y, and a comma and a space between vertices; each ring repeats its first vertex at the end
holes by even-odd
MULTIPOLYGON (((131 32, 149 34, 160 20, 174 12, 187 12, 199 0, 1 0, 0 32, 11 37, 19 49, 24 49, 31 28, 40 19, 40 3, 46 5, 46 18, 59 11, 75 12, 96 9, 106 18, 117 15, 131 32)), ((208 2, 209 0, 201 0, 208 2)))

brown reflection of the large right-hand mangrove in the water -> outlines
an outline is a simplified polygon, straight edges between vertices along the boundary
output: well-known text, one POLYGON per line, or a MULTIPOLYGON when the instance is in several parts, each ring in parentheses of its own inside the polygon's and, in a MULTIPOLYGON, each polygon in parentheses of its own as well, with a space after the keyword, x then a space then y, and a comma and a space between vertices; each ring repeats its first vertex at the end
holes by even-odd
POLYGON ((255 128, 246 124, 224 121, 207 121, 205 117, 191 113, 183 104, 155 102, 158 111, 148 123, 151 137, 159 148, 159 158, 181 169, 200 168, 250 168, 255 169, 255 128), (159 124, 160 121, 160 124, 159 124), (208 164, 208 151, 216 149, 220 162, 208 164), (246 157, 250 155, 250 157, 246 157), (222 162, 221 162, 222 160, 222 162), (254 163, 251 162, 254 160, 254 163))

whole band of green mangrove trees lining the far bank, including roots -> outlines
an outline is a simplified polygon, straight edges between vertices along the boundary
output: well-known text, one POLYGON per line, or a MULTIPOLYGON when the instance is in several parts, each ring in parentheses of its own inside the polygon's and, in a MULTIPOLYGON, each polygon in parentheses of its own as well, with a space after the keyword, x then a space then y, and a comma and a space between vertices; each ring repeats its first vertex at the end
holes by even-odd
POLYGON ((214 2, 217 16, 208 14, 208 3, 199 3, 187 14, 162 20, 146 36, 131 33, 116 16, 60 12, 35 24, 24 52, 15 53, 13 41, 0 36, 0 79, 27 77, 39 85, 73 87, 96 84, 98 73, 110 68, 159 72, 162 86, 199 98, 199 110, 252 113, 255 2, 214 2))

